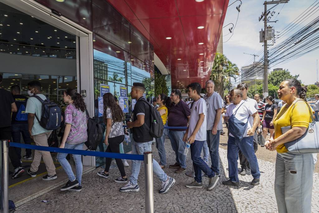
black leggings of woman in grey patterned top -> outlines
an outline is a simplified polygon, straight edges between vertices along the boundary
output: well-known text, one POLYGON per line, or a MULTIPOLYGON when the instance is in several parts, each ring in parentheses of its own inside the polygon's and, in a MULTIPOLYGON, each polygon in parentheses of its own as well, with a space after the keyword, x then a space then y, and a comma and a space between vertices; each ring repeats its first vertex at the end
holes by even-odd
MULTIPOLYGON (((106 148, 105 152, 120 153, 120 143, 122 143, 123 141, 124 141, 124 135, 116 136, 114 138, 109 138, 108 139, 108 148, 106 148)), ((117 167, 120 170, 121 176, 122 177, 126 176, 122 159, 115 158, 115 161, 116 161, 117 167)), ((112 158, 107 157, 106 162, 105 162, 105 170, 104 171, 106 171, 106 172, 109 171, 111 162, 112 162, 112 158)))

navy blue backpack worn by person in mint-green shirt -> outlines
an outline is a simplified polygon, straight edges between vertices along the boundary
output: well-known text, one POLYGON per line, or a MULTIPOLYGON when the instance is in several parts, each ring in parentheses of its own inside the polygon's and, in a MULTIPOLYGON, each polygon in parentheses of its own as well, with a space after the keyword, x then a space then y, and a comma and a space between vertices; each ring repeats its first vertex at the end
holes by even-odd
POLYGON ((61 125, 61 109, 54 102, 51 102, 48 98, 42 100, 38 95, 34 95, 42 103, 42 115, 41 120, 36 114, 35 118, 39 121, 40 126, 47 130, 55 130, 61 125))

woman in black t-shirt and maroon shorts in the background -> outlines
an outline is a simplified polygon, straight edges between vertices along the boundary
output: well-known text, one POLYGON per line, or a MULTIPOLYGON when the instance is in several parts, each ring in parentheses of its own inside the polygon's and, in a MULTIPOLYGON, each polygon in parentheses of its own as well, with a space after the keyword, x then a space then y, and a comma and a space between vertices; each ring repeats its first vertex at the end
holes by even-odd
POLYGON ((263 112, 263 137, 266 138, 268 129, 270 135, 274 133, 274 119, 276 118, 278 106, 271 96, 266 97, 265 111, 263 112))

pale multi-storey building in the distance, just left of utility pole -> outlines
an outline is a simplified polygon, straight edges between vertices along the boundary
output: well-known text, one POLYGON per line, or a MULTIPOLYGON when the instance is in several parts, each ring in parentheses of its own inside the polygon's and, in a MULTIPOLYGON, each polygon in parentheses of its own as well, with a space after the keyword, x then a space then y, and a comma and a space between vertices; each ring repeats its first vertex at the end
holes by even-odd
POLYGON ((263 79, 263 63, 256 62, 241 67, 241 81, 263 79))

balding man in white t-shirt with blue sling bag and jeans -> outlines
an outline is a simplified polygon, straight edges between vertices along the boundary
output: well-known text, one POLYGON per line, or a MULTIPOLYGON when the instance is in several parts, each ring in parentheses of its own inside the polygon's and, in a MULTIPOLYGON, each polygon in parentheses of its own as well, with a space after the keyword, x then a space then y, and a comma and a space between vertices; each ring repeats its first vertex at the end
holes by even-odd
POLYGON ((260 171, 257 157, 253 147, 253 135, 259 123, 258 111, 248 101, 242 98, 240 89, 233 89, 229 94, 231 104, 225 114, 225 122, 228 122, 229 138, 227 141, 227 160, 229 180, 223 181, 227 186, 239 186, 238 179, 238 152, 247 157, 250 164, 253 180, 251 185, 259 184, 260 171))

